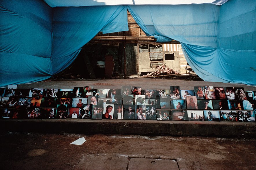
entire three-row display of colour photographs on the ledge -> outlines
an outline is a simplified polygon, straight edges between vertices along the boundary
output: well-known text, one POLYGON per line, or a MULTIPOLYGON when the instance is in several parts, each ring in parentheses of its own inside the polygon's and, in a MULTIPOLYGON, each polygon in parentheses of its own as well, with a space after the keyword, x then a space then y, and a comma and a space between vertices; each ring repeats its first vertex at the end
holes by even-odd
POLYGON ((0 88, 0 115, 1 118, 28 119, 253 122, 255 100, 255 91, 245 92, 244 88, 237 87, 196 86, 194 90, 180 90, 179 86, 145 90, 139 86, 122 86, 121 89, 94 89, 94 86, 18 89, 16 85, 9 85, 8 88, 0 88), (239 116, 237 110, 246 110, 250 117, 239 116))

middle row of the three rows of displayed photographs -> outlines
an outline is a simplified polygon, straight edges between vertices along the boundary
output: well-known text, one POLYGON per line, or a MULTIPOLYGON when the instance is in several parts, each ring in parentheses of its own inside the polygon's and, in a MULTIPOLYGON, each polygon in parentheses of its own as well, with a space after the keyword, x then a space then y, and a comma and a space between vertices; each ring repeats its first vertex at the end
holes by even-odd
POLYGON ((145 95, 124 96, 115 95, 114 99, 98 98, 89 96, 88 98, 47 98, 36 99, 33 97, 0 97, 1 107, 82 107, 84 104, 92 105, 156 105, 157 109, 215 109, 215 110, 253 110, 254 100, 199 100, 196 96, 187 96, 186 99, 170 99, 168 96, 161 96, 160 99, 146 99, 145 95))

